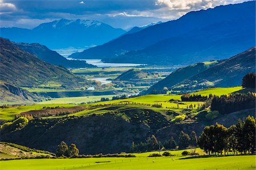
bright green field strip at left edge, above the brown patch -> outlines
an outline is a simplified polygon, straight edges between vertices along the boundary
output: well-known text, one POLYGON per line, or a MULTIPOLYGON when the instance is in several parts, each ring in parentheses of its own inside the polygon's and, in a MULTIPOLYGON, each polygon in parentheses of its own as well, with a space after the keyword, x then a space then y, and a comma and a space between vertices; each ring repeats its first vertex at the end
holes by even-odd
POLYGON ((71 104, 44 104, 44 105, 23 105, 19 107, 10 107, 10 108, 0 108, 0 120, 13 120, 15 114, 19 114, 21 112, 27 112, 32 110, 40 110, 44 106, 46 107, 72 107, 74 105, 71 104))

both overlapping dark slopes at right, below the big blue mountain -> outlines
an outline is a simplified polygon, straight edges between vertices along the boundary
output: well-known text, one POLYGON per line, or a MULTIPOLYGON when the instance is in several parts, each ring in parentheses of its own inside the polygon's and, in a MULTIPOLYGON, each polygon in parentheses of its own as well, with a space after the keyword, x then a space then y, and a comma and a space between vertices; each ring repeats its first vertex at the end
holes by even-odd
POLYGON ((229 59, 201 62, 180 68, 142 94, 161 94, 164 87, 175 91, 196 91, 209 87, 241 86, 246 73, 255 72, 256 47, 229 59))

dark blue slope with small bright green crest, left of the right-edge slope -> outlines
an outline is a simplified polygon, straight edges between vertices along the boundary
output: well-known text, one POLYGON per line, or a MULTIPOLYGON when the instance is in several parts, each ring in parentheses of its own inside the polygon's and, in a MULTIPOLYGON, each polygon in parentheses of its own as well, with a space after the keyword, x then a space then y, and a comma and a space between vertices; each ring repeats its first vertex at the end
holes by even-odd
POLYGON ((176 71, 168 75, 163 80, 160 80, 158 83, 148 88, 147 91, 142 92, 142 94, 166 93, 166 91, 163 90, 164 87, 170 88, 185 79, 191 78, 193 75, 196 75, 204 70, 207 70, 209 67, 212 67, 217 63, 218 63, 217 61, 200 62, 193 65, 189 65, 187 67, 182 67, 180 69, 177 69, 176 71))

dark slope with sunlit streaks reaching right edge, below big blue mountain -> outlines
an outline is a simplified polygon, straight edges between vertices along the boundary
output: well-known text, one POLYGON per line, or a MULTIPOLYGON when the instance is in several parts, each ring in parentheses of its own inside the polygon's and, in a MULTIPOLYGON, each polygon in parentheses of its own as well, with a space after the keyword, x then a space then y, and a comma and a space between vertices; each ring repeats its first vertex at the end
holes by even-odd
POLYGON ((207 87, 240 86, 246 73, 255 73, 255 53, 256 48, 253 47, 176 84, 173 88, 179 89, 182 86, 187 90, 199 90, 207 87))

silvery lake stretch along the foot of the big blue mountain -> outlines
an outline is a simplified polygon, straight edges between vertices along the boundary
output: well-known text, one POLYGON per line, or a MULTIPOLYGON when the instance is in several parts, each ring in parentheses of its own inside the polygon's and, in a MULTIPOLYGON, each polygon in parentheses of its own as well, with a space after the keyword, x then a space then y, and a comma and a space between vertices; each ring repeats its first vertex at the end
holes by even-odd
MULTIPOLYGON (((73 59, 73 58, 67 58, 73 59)), ((134 67, 134 66, 141 66, 142 64, 135 64, 135 63, 104 63, 101 59, 79 59, 86 61, 89 64, 95 65, 97 67, 134 67)))

